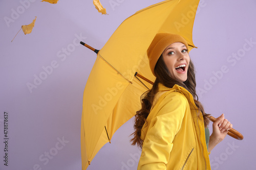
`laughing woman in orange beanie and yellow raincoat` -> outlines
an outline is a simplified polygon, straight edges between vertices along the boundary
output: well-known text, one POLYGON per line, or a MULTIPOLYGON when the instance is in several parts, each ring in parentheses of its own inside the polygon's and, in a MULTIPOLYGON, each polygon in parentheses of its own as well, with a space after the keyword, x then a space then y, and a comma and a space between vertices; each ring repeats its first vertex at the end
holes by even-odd
POLYGON ((232 124, 222 114, 207 135, 209 119, 196 100, 187 42, 179 35, 159 33, 147 56, 156 81, 142 96, 135 116, 132 144, 142 149, 138 169, 210 169, 208 154, 232 124))

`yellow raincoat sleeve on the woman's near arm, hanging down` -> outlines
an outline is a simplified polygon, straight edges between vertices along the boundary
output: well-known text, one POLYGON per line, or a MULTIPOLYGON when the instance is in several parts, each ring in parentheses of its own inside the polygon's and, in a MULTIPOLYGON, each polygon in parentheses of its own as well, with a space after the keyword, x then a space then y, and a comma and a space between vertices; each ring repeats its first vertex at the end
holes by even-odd
POLYGON ((187 108, 185 96, 179 92, 171 92, 160 102, 156 116, 148 125, 138 170, 166 169, 174 137, 181 128, 187 108))

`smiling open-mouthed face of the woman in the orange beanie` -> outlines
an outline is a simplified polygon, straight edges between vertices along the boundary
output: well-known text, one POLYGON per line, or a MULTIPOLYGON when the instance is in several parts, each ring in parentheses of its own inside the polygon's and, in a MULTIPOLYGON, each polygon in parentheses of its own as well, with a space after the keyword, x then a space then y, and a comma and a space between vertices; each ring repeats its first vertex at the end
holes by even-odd
POLYGON ((165 48, 162 56, 170 76, 182 82, 186 81, 190 61, 186 46, 181 42, 172 43, 165 48))

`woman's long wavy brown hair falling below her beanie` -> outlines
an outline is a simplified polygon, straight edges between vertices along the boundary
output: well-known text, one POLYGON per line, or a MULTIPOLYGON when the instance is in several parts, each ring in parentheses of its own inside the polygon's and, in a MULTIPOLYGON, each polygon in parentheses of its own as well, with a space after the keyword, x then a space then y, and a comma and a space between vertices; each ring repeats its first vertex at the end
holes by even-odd
POLYGON ((206 117, 207 114, 204 112, 203 105, 198 101, 198 96, 196 94, 196 76, 194 70, 194 64, 190 60, 187 70, 187 80, 185 82, 178 81, 176 79, 171 78, 169 75, 169 71, 167 66, 163 61, 162 55, 157 61, 155 66, 155 75, 156 81, 153 84, 152 89, 146 91, 144 94, 141 95, 141 109, 136 112, 135 115, 135 124, 134 129, 135 132, 132 134, 134 137, 131 139, 132 145, 137 144, 138 147, 142 148, 143 140, 140 138, 141 136, 141 129, 144 124, 146 124, 146 118, 148 114, 150 114, 150 110, 155 99, 155 95, 158 92, 158 84, 162 83, 165 87, 172 88, 175 84, 184 87, 187 89, 194 97, 194 101, 196 106, 198 107, 199 111, 203 113, 204 118, 204 125, 205 127, 209 124, 209 119, 206 117))

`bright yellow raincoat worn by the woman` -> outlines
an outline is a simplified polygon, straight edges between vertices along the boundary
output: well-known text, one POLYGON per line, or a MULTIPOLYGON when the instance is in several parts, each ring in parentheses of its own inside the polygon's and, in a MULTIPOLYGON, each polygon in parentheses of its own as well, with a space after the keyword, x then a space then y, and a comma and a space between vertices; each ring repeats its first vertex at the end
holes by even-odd
POLYGON ((178 85, 159 84, 159 93, 141 131, 138 170, 210 169, 203 116, 198 117, 193 96, 178 85))

